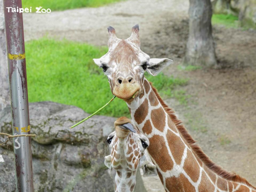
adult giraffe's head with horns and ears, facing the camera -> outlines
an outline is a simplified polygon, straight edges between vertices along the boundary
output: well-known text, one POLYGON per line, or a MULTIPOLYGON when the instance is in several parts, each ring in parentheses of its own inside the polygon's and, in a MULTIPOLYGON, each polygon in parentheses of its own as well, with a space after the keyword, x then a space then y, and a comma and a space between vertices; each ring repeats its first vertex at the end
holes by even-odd
POLYGON ((132 28, 131 36, 127 39, 117 38, 115 29, 111 26, 108 27, 108 32, 109 51, 93 60, 107 75, 113 95, 132 101, 142 91, 144 73, 147 71, 155 76, 172 60, 150 58, 141 51, 138 25, 132 28))

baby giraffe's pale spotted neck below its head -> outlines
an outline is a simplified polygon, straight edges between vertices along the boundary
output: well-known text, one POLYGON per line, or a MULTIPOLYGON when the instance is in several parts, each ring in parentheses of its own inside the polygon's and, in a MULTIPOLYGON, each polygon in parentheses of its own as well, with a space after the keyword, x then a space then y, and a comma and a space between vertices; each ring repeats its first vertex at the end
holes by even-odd
POLYGON ((133 192, 136 184, 137 170, 127 172, 126 170, 117 171, 115 175, 115 192, 133 192))

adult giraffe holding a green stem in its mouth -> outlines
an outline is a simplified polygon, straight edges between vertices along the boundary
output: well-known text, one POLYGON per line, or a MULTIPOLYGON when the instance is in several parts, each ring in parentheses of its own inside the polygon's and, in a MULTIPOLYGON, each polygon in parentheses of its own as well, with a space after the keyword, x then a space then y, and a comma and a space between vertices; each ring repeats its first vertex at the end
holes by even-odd
POLYGON ((109 51, 94 62, 102 67, 114 95, 123 99, 139 131, 149 138, 148 152, 166 191, 256 192, 246 179, 214 164, 189 135, 147 81, 144 73, 157 75, 170 59, 151 59, 141 51, 139 26, 123 40, 108 27, 109 51))

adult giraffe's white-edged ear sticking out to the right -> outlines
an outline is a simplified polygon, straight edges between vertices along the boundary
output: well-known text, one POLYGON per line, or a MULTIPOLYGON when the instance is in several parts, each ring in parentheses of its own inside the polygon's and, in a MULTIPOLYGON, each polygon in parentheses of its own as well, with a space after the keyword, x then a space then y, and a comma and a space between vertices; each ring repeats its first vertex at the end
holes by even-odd
POLYGON ((160 71, 162 71, 165 67, 171 64, 173 60, 162 58, 152 58, 149 59, 149 66, 147 67, 147 72, 149 72, 151 75, 156 76, 160 71))

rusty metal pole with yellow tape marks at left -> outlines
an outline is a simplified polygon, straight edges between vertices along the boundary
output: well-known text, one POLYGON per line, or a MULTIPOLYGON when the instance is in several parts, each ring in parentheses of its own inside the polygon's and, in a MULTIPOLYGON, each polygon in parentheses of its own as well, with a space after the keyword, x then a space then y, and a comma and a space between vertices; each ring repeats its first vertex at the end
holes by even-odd
MULTIPOLYGON (((22 13, 6 7, 21 8, 21 0, 3 0, 7 44, 13 135, 30 134, 29 103, 22 13)), ((31 138, 13 139, 17 192, 33 192, 31 138)))

